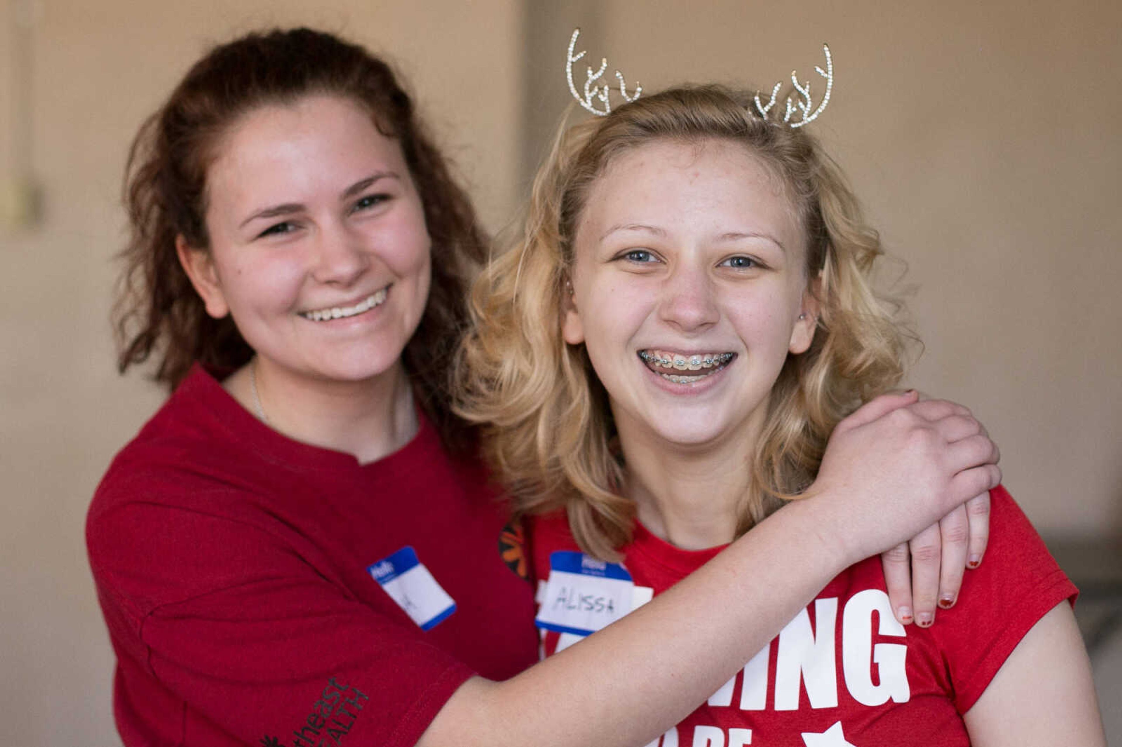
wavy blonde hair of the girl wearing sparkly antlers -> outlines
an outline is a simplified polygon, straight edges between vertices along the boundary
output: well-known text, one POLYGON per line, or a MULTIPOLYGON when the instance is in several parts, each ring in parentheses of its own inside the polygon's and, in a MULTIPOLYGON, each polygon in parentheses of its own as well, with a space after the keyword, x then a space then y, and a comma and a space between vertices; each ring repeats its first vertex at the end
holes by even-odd
POLYGON ((741 144, 779 177, 807 241, 807 277, 819 278, 818 329, 771 390, 737 535, 804 491, 838 422, 903 375, 912 335, 896 321, 899 301, 874 290, 880 238, 804 128, 767 122, 751 93, 716 85, 670 89, 562 126, 521 234, 472 287, 457 411, 484 425, 484 453, 516 511, 564 508, 581 548, 605 560, 631 540, 635 507, 619 492, 624 465, 607 394, 583 345, 561 336, 577 225, 590 187, 620 154, 655 140, 712 139, 741 144))

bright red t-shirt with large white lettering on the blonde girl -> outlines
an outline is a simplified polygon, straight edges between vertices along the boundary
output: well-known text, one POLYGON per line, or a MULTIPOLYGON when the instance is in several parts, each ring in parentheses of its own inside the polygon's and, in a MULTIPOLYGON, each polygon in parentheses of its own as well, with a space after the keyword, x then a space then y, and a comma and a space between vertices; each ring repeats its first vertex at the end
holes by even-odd
MULTIPOLYGON (((940 610, 932 627, 899 625, 880 559, 857 563, 654 745, 871 747, 913 744, 917 735, 926 745, 969 745, 962 714, 1029 628, 1076 594, 1005 489, 991 496, 985 562, 966 573, 958 602, 940 610)), ((531 519, 527 543, 542 601, 551 568, 571 569, 551 554, 577 545, 558 514, 531 519)), ((634 542, 623 550, 623 566, 635 583, 633 605, 665 591, 719 551, 681 550, 636 526, 634 542)), ((543 655, 580 640, 573 633, 542 634, 543 655)))

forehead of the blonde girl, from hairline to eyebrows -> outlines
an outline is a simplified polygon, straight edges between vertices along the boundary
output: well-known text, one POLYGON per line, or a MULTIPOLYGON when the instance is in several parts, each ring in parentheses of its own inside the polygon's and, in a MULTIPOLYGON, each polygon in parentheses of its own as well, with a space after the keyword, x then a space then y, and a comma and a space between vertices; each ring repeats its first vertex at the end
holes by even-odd
POLYGON ((721 232, 780 233, 802 243, 794 202, 776 169, 726 139, 660 139, 617 154, 592 182, 577 236, 619 222, 721 232))

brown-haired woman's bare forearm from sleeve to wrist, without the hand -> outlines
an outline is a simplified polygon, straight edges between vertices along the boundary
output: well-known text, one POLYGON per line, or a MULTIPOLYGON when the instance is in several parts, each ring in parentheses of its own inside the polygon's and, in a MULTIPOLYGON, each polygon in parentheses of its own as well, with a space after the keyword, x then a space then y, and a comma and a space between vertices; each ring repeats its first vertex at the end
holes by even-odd
POLYGON ((664 594, 506 682, 472 680, 420 744, 634 747, 717 691, 852 559, 790 505, 664 594))

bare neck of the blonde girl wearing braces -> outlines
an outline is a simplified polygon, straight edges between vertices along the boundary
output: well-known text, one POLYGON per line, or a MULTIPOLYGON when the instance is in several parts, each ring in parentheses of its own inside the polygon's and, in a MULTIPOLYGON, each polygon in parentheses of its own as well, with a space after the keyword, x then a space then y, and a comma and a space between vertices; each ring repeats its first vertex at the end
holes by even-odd
POLYGON ((627 464, 627 495, 652 534, 686 550, 703 550, 736 537, 741 507, 752 481, 751 433, 705 444, 675 444, 617 421, 627 464))

